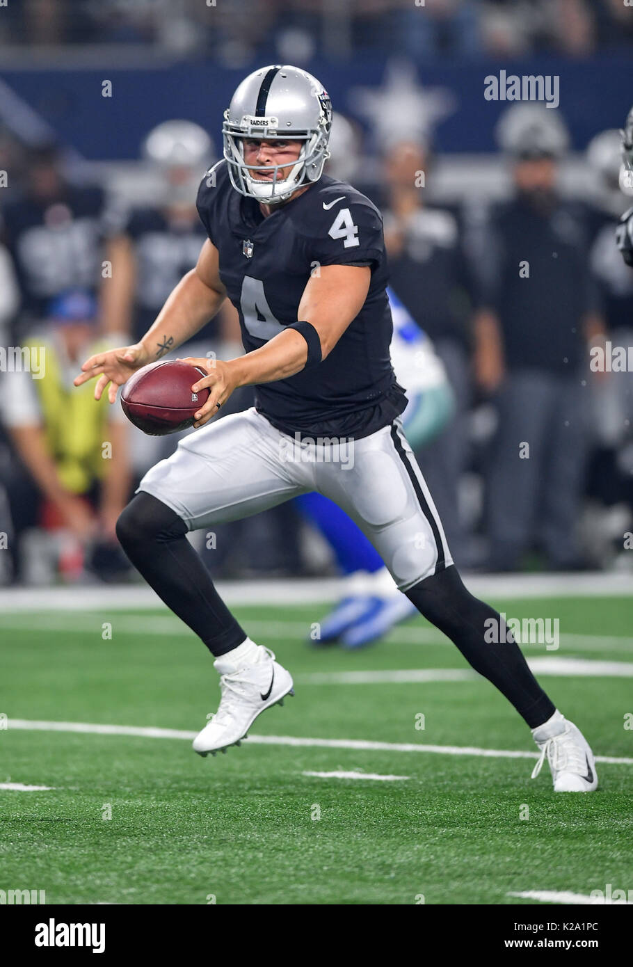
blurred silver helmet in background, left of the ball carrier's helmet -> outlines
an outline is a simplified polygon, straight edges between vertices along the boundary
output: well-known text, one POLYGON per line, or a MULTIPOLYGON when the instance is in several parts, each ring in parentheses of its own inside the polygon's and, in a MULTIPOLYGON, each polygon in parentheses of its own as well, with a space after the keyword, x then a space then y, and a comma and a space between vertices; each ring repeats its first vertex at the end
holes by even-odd
POLYGON ((163 121, 143 143, 143 155, 158 167, 165 204, 195 204, 200 179, 216 160, 209 134, 192 121, 163 121))

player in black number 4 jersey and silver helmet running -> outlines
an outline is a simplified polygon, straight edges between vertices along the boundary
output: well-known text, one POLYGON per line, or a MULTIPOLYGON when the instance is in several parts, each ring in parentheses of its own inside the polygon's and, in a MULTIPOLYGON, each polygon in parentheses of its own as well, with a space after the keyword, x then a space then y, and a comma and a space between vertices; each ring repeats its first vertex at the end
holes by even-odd
POLYGON ((590 747, 532 676, 501 616, 455 569, 442 523, 402 432, 407 405, 389 359, 391 316, 376 207, 323 176, 331 101, 298 68, 249 74, 224 114, 224 159, 204 177, 208 233, 196 267, 133 346, 92 356, 76 384, 95 396, 181 344, 228 296, 245 356, 190 359, 207 401, 179 444, 143 478, 119 517, 130 561, 215 657, 221 699, 193 742, 201 755, 237 745, 265 709, 292 693, 290 673, 245 633, 219 598, 187 531, 213 527, 316 490, 373 543, 399 589, 500 689, 532 729, 554 788, 595 789, 590 747), (239 386, 255 405, 205 426, 239 386), (486 641, 490 623, 499 644, 486 641))

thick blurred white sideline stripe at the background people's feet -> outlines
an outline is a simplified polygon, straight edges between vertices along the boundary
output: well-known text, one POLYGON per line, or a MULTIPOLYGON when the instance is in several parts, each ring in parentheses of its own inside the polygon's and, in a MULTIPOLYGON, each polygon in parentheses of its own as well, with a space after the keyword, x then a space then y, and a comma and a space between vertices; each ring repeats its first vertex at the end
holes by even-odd
MULTIPOLYGON (((633 574, 588 571, 583 574, 463 574, 476 597, 578 598, 630 597, 633 574)), ((338 601, 337 578, 283 578, 278 580, 218 581, 217 591, 229 605, 300 604, 338 601)), ((158 595, 147 586, 112 584, 92 588, 0 588, 0 610, 45 611, 87 608, 161 607, 158 595)))

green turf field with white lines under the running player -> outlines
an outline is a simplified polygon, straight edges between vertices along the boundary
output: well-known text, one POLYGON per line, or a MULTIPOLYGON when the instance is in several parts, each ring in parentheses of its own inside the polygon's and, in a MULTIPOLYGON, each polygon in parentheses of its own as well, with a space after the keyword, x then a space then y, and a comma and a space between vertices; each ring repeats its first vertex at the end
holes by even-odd
MULTIPOLYGON (((560 649, 527 646, 528 658, 633 662, 630 600, 493 603, 508 616, 560 618, 560 649)), ((633 679, 613 670, 541 678, 596 755, 629 760, 598 762, 595 794, 555 795, 547 764, 531 780, 533 758, 411 748, 532 752, 530 732, 484 680, 335 677, 466 669, 440 632, 417 619, 360 652, 306 647, 326 610, 236 609, 293 672, 296 697, 259 718, 241 748, 207 759, 185 738, 28 725, 202 728, 216 710, 216 673, 168 612, 1 615, 0 713, 10 727, 0 729, 0 783, 53 788, 0 788, 0 888, 73 904, 415 904, 422 895, 504 904, 527 902, 507 895, 524 891, 633 888, 633 730, 624 727, 633 679), (263 736, 280 738, 255 741, 263 736), (293 747, 285 737, 396 747, 293 747), (304 775, 336 771, 406 778, 304 775)))

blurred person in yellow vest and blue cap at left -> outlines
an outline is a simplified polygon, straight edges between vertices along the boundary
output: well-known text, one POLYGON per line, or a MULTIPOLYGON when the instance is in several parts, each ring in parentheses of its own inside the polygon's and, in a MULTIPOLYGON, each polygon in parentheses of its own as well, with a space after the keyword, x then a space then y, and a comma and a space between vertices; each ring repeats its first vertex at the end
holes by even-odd
POLYGON ((14 568, 30 583, 86 570, 105 580, 129 572, 115 524, 129 498, 127 420, 72 380, 86 352, 99 351, 94 296, 56 297, 25 340, 30 370, 2 374, 0 409, 19 464, 8 482, 14 568))

